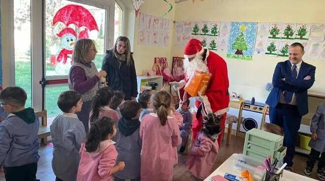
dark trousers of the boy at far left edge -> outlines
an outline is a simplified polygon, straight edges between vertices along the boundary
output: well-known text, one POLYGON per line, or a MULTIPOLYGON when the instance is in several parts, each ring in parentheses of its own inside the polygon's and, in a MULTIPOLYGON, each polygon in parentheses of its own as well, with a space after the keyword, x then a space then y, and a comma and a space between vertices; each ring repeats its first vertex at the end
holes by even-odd
POLYGON ((4 177, 6 181, 35 181, 36 179, 37 163, 17 167, 5 167, 5 169, 6 174, 4 177))

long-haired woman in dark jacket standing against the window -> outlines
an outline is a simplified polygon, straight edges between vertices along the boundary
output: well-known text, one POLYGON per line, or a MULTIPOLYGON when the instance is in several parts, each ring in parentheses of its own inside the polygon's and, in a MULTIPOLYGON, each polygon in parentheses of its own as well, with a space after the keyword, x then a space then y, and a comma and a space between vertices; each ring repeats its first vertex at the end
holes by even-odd
POLYGON ((132 54, 129 38, 119 36, 114 47, 106 50, 101 67, 107 72, 107 86, 113 91, 122 91, 125 100, 135 100, 138 94, 132 54))

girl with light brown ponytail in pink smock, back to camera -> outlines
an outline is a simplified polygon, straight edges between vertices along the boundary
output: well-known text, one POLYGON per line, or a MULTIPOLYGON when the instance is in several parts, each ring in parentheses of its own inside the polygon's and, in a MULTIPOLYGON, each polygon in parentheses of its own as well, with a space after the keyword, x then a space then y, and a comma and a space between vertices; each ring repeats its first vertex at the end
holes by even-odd
POLYGON ((158 91, 151 103, 155 113, 144 116, 140 124, 141 181, 172 181, 175 147, 182 142, 178 121, 171 112, 172 97, 158 91))

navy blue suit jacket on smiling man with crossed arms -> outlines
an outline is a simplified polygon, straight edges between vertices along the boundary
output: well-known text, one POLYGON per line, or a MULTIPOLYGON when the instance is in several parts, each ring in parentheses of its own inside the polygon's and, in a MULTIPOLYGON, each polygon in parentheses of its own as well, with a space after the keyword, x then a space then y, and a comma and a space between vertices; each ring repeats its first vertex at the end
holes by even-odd
POLYGON ((282 91, 292 91, 295 93, 297 108, 301 116, 308 113, 308 95, 307 90, 311 88, 315 82, 316 67, 304 61, 301 66, 296 79, 291 77, 291 63, 290 60, 279 62, 274 70, 272 84, 273 89, 266 99, 266 104, 274 108, 280 101, 282 91), (306 76, 311 79, 303 80, 306 76), (285 81, 281 80, 286 78, 285 81))

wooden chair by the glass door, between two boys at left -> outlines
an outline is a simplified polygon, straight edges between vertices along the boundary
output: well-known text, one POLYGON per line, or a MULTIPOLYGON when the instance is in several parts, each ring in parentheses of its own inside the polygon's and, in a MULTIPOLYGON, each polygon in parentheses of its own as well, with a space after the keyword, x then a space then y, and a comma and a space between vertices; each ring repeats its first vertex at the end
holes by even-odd
POLYGON ((51 136, 50 127, 47 126, 47 111, 39 111, 35 113, 38 118, 40 118, 40 124, 38 129, 37 137, 41 139, 41 143, 47 145, 47 137, 51 136))

